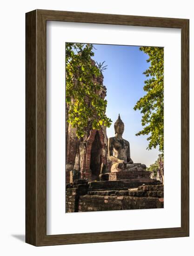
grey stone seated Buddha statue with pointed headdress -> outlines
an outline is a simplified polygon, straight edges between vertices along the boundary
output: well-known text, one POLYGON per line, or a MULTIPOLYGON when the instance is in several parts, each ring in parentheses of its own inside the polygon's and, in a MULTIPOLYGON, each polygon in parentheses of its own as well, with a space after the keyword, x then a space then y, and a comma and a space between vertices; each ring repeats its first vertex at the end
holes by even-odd
POLYGON ((145 170, 145 164, 134 163, 131 159, 129 142, 122 138, 124 123, 120 119, 120 115, 114 123, 114 131, 115 136, 108 139, 108 158, 112 161, 111 173, 145 170))

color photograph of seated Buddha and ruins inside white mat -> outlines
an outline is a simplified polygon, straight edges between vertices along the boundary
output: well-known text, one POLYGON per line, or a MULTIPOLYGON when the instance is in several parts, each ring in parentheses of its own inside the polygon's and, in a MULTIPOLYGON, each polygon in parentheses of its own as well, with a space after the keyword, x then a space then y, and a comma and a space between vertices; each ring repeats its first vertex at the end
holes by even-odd
POLYGON ((164 47, 64 47, 65 212, 164 208, 164 47))

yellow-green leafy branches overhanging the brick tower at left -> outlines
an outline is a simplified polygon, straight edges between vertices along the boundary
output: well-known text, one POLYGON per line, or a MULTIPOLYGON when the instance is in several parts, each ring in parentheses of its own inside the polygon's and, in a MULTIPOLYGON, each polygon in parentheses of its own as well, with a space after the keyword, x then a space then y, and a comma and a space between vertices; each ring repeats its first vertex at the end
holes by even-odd
POLYGON ((87 134, 90 125, 100 129, 101 125, 110 127, 111 120, 105 114, 107 101, 97 93, 103 85, 94 78, 102 76, 106 69, 103 63, 96 66, 92 44, 66 43, 66 104, 68 122, 77 129, 77 136, 87 134))

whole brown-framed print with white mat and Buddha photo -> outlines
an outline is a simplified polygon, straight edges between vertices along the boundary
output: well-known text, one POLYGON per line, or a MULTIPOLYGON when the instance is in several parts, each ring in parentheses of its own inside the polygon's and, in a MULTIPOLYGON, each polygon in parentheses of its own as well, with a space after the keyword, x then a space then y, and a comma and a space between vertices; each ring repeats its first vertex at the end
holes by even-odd
POLYGON ((26 13, 26 242, 180 236, 189 20, 26 13))

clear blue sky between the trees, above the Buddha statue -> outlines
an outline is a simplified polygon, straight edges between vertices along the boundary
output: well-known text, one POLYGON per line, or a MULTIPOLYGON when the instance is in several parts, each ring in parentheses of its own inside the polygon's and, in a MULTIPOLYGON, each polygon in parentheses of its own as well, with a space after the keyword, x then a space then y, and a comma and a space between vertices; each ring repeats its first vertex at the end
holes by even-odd
POLYGON ((120 117, 125 124, 123 138, 129 141, 131 158, 134 162, 147 166, 158 158, 158 148, 147 150, 147 136, 135 136, 142 129, 141 113, 134 111, 135 103, 145 95, 143 90, 146 76, 142 74, 149 63, 147 54, 137 46, 96 45, 94 44, 94 61, 105 61, 108 65, 103 72, 104 85, 107 88, 107 116, 112 125, 107 128, 107 136, 114 136, 114 122, 120 117))

